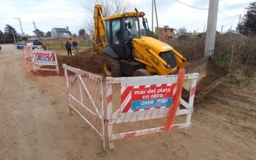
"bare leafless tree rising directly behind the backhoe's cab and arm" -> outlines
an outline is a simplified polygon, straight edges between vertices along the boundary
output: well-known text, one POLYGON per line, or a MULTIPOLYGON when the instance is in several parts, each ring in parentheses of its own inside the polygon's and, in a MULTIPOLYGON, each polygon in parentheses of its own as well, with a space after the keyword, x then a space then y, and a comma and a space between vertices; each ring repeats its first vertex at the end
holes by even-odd
POLYGON ((102 5, 103 17, 134 10, 134 4, 129 0, 83 0, 82 4, 86 16, 86 29, 92 35, 94 31, 93 13, 95 4, 102 5))

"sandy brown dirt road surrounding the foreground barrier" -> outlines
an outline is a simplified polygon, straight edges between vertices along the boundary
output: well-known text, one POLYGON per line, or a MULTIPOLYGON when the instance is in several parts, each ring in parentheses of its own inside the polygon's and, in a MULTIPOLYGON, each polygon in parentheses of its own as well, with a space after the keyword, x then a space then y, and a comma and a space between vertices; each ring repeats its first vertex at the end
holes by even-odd
POLYGON ((22 51, 15 45, 2 47, 0 159, 256 157, 255 88, 221 84, 195 103, 188 136, 178 130, 143 140, 115 141, 115 150, 101 157, 99 136, 79 116, 69 115, 64 77, 35 77, 26 70, 22 51))

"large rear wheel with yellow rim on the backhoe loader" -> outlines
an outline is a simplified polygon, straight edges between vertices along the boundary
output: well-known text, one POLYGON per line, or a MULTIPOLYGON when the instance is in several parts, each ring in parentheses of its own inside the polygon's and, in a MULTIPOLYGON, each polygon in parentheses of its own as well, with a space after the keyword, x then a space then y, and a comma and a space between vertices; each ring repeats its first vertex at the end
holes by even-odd
POLYGON ((121 65, 119 60, 114 60, 109 56, 103 56, 101 61, 101 70, 106 77, 121 77, 121 65))

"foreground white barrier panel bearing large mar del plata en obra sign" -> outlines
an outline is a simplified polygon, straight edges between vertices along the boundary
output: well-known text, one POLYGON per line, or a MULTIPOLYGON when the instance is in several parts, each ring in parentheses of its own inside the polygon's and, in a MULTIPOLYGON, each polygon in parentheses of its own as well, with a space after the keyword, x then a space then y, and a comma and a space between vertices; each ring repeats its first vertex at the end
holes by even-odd
MULTIPOLYGON (((160 126, 146 127, 139 129, 134 122, 166 118, 172 109, 173 97, 177 90, 178 75, 173 76, 148 76, 148 77, 106 77, 106 100, 107 100, 107 121, 109 149, 113 149, 113 140, 143 136, 164 131, 164 124, 160 126), (119 86, 118 86, 119 85, 119 86), (114 91, 115 90, 115 91, 114 91), (131 123, 131 130, 122 125, 128 126, 131 123), (116 127, 116 125, 119 125, 116 127), (120 127, 121 125, 121 127, 120 127), (124 128, 124 127, 123 127, 124 128)), ((198 74, 185 74, 184 81, 191 84, 188 102, 180 98, 180 106, 176 116, 186 115, 185 122, 172 124, 170 129, 185 128, 191 126, 191 114, 195 98, 196 79, 198 74)), ((175 116, 175 117, 176 117, 175 116)), ((177 119, 177 118, 175 118, 177 119)))

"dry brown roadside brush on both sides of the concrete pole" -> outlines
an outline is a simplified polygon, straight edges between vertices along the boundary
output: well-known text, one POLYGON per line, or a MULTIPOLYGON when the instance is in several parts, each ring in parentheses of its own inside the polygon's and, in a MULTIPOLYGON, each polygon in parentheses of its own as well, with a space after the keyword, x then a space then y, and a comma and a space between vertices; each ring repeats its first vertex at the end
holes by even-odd
MULTIPOLYGON (((167 42, 190 63, 204 58, 205 36, 186 36, 167 42)), ((214 60, 230 72, 232 83, 256 81, 256 37, 227 33, 216 36, 214 60)))

